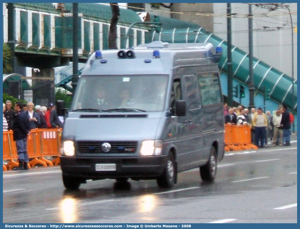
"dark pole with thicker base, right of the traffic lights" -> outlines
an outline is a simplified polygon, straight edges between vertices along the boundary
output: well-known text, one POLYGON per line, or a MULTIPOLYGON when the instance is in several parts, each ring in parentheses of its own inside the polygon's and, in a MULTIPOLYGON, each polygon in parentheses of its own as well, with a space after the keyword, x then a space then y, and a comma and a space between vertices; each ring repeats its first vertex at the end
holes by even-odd
POLYGON ((252 5, 249 3, 248 27, 249 27, 249 110, 255 107, 254 105, 254 79, 253 79, 253 21, 252 21, 252 5))

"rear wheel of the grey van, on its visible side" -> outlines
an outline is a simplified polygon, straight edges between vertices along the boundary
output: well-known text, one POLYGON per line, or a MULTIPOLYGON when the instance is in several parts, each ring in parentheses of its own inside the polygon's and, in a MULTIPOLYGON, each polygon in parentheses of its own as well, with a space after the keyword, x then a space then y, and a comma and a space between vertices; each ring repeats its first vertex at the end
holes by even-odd
POLYGON ((200 176, 203 181, 214 181, 217 173, 216 148, 211 147, 208 162, 200 167, 200 176))

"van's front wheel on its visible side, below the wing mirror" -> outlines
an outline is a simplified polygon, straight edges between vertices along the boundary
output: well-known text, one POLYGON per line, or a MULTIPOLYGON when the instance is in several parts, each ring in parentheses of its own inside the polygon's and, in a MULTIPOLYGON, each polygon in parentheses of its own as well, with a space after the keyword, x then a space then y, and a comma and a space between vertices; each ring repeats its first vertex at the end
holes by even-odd
POLYGON ((175 159, 172 153, 169 153, 167 163, 163 174, 159 176, 157 180, 158 187, 160 188, 172 188, 175 184, 176 167, 175 159))

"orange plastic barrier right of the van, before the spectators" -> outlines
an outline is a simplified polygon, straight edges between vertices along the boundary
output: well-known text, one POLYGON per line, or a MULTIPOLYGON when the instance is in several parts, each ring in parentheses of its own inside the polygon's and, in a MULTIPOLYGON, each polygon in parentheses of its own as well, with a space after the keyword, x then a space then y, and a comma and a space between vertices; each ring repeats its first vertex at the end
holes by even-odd
POLYGON ((251 129, 247 125, 225 124, 225 151, 258 149, 251 143, 251 129))

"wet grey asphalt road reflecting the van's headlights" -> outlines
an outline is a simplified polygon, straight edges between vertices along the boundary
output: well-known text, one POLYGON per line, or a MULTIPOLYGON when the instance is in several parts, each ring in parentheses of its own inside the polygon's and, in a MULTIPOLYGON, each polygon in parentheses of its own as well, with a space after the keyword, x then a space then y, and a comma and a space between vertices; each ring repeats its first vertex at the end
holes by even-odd
POLYGON ((59 166, 3 172, 3 223, 297 223, 297 142, 227 152, 214 183, 199 169, 155 180, 88 181, 67 192, 59 166), (279 208, 279 209, 278 209, 279 208))

